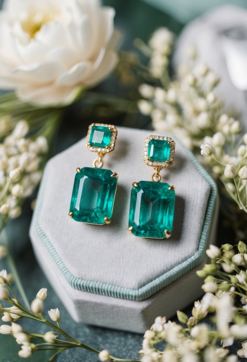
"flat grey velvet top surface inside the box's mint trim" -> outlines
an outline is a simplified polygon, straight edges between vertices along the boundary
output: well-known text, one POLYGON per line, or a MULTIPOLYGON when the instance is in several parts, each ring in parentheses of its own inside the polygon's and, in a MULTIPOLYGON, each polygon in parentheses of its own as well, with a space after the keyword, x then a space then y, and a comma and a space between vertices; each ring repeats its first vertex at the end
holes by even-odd
POLYGON ((148 135, 119 129, 116 150, 104 157, 104 168, 119 174, 110 225, 78 223, 67 216, 76 167, 91 167, 96 157, 85 139, 49 161, 39 225, 76 277, 137 289, 197 251, 210 188, 179 144, 174 165, 160 172, 162 181, 176 186, 172 237, 149 240, 127 233, 132 182, 150 180, 154 172, 142 160, 148 135))

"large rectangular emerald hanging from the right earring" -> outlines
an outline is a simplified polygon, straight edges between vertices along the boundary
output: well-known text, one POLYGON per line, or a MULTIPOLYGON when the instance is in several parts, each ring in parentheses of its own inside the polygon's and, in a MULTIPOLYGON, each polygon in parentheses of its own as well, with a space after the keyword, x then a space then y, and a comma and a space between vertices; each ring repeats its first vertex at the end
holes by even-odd
POLYGON ((175 191, 164 182, 139 181, 130 197, 129 227, 135 236, 163 239, 171 232, 175 191))

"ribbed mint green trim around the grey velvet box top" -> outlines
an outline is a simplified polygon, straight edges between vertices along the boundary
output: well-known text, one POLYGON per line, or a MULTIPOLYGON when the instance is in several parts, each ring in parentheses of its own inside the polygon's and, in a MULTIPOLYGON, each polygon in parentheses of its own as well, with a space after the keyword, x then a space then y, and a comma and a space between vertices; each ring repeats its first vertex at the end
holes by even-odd
MULTIPOLYGON (((179 141, 176 140, 176 142, 179 141)), ((213 181, 212 177, 208 174, 208 172, 206 172, 206 170, 198 163, 193 153, 184 146, 183 148, 189 159, 192 161, 192 164, 197 169, 198 173, 202 177, 204 177, 204 179, 210 185, 208 206, 205 213, 205 219, 202 226, 201 238, 198 244, 198 249, 196 253, 194 253, 189 259, 183 261, 181 264, 175 266, 171 270, 167 271, 163 275, 160 275, 158 278, 152 280, 151 282, 147 283, 146 285, 142 286, 139 289, 132 289, 108 283, 85 280, 75 277, 75 275, 71 274, 71 272, 68 270, 63 260, 61 259, 61 257, 58 255, 55 248, 51 244, 51 241, 48 239, 48 237, 46 236, 46 234, 43 232, 43 230, 39 225, 39 215, 42 207, 42 194, 45 189, 45 178, 42 180, 42 185, 39 190, 39 197, 37 199, 38 203, 37 206, 35 207, 35 212, 34 212, 34 228, 39 238, 41 239, 42 243, 45 245, 47 251, 50 253, 51 257, 56 262, 64 278, 66 278, 68 284, 72 288, 96 294, 108 295, 115 298, 140 301, 143 299, 147 299, 155 292, 166 287, 168 284, 172 283, 173 281, 175 281, 176 279, 187 273, 189 270, 192 270, 202 262, 205 256, 207 237, 210 230, 213 211, 215 207, 215 201, 217 197, 217 186, 215 185, 215 182, 213 181)))

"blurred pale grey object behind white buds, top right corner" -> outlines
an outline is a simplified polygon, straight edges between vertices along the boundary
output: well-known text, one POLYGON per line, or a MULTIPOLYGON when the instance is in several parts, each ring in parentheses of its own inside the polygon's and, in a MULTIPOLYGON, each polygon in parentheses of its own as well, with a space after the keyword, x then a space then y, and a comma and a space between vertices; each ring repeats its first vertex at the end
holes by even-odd
POLYGON ((177 41, 173 66, 188 63, 189 46, 197 48, 197 63, 207 64, 221 77, 218 96, 227 111, 235 111, 246 131, 247 10, 225 5, 188 24, 177 41))

